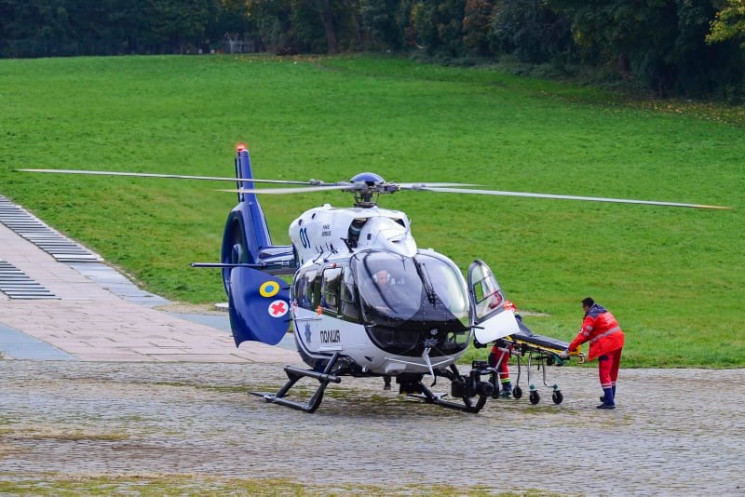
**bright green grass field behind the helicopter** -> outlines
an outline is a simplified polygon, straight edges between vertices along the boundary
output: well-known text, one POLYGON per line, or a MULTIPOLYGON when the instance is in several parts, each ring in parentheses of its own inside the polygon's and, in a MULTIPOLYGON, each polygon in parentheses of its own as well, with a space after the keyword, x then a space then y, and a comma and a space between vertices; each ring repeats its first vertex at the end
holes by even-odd
MULTIPOLYGON (((730 211, 400 193, 420 247, 494 270, 538 333, 571 339, 593 296, 625 366, 745 366, 742 108, 627 102, 596 89, 400 58, 0 60, 0 193, 148 290, 224 301, 217 261, 234 194, 206 182, 16 168, 393 181, 717 204, 730 211), (732 116, 735 116, 734 118, 732 116), (733 122, 733 119, 735 122, 733 122), (739 123, 738 123, 739 119, 739 123)), ((342 193, 267 196, 276 243, 342 193)), ((2 249, 0 248, 0 257, 2 249)))

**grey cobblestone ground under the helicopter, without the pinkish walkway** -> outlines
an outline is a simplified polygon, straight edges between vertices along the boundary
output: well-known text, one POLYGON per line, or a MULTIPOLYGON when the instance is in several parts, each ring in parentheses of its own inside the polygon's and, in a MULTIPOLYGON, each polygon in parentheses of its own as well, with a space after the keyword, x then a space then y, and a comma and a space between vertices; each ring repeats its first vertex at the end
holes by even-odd
POLYGON ((563 404, 546 389, 536 406, 527 395, 490 400, 477 415, 344 378, 306 414, 246 394, 276 391, 278 365, 0 361, 0 479, 157 473, 745 495, 744 373, 623 370, 619 407, 598 411, 594 368, 550 368, 563 404))

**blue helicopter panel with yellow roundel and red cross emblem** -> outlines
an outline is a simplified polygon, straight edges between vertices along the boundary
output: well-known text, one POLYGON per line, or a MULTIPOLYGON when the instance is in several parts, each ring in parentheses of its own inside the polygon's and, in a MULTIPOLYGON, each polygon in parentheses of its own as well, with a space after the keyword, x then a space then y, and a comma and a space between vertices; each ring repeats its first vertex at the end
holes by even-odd
POLYGON ((278 344, 290 323, 287 283, 248 267, 229 271, 228 304, 235 346, 246 340, 278 344))

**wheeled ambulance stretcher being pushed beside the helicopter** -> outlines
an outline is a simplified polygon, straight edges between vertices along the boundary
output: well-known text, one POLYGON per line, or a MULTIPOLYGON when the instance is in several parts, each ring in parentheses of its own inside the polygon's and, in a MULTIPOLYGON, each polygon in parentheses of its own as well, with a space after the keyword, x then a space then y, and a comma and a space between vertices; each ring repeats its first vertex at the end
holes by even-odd
MULTIPOLYGON (((554 404, 561 404, 564 400, 564 395, 561 393, 561 389, 559 389, 557 383, 552 385, 548 384, 546 381, 546 368, 547 366, 562 366, 566 363, 567 359, 562 359, 560 354, 569 348, 569 343, 556 338, 533 333, 530 328, 523 324, 521 319, 518 319, 517 322, 520 331, 497 340, 495 344, 498 350, 507 352, 509 356, 502 354, 498 359, 497 364, 494 366, 494 369, 498 371, 501 361, 509 360, 510 356, 514 356, 517 359, 517 378, 512 386, 512 396, 519 399, 523 396, 523 389, 520 387, 523 361, 527 362, 528 397, 530 403, 535 405, 541 401, 541 395, 535 384, 531 382, 530 378, 531 368, 535 365, 536 368, 542 372, 543 386, 551 390, 551 400, 553 400, 554 404)), ((585 356, 581 352, 573 352, 570 356, 577 357, 580 364, 585 361, 585 356)), ((492 373, 492 384, 495 387, 493 397, 495 398, 500 394, 500 382, 498 376, 497 372, 492 373)))

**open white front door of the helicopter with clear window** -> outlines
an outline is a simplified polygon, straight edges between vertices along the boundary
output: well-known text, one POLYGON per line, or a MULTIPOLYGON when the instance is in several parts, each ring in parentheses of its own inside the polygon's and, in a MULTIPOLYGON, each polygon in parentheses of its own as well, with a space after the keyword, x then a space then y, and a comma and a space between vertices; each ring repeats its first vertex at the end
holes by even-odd
POLYGON ((479 343, 487 344, 520 331, 514 310, 504 306, 504 294, 494 273, 478 259, 468 267, 468 296, 479 343))

